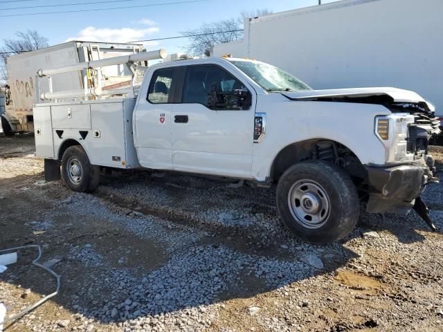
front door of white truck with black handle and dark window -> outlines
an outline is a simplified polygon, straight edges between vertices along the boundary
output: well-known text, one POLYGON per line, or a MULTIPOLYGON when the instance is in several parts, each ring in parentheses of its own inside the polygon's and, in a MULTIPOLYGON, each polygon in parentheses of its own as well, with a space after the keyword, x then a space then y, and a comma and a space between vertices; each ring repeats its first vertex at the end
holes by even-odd
POLYGON ((182 67, 181 77, 181 102, 172 105, 171 116, 174 169, 251 178, 253 90, 215 64, 182 67), (247 106, 239 91, 248 96, 247 106))

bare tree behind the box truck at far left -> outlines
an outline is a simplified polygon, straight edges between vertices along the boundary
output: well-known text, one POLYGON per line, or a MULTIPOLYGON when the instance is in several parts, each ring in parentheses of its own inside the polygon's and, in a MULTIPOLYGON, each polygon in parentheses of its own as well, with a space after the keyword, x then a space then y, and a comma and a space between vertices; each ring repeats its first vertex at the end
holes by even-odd
POLYGON ((38 50, 49 46, 48 39, 37 33, 36 30, 15 33, 15 39, 3 39, 3 46, 0 48, 0 72, 1 78, 6 78, 6 59, 11 55, 38 50))

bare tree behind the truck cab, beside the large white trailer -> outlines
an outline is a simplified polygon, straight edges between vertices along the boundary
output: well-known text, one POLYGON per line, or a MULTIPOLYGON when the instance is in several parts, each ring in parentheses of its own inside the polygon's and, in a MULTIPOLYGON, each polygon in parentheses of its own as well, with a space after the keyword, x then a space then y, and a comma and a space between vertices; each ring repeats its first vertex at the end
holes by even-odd
POLYGON ((270 13, 271 11, 267 9, 242 11, 237 19, 224 19, 222 21, 206 23, 197 29, 183 31, 181 34, 189 37, 188 53, 209 56, 210 48, 214 45, 234 42, 243 38, 244 19, 270 13))

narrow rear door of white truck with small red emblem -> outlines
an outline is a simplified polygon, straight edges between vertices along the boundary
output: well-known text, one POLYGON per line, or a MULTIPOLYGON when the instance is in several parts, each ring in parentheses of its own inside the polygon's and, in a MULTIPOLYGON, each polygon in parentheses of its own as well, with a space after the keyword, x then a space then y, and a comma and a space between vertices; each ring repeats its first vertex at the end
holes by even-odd
POLYGON ((134 128, 138 161, 152 169, 172 169, 171 109, 177 85, 175 68, 159 68, 138 96, 134 128))

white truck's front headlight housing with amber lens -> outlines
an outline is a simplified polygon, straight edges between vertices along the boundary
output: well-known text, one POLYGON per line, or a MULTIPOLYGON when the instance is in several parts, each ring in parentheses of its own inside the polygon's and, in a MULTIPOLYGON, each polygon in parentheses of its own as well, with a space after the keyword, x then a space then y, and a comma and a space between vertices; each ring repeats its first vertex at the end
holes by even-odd
POLYGON ((410 123, 414 123, 414 116, 408 113, 375 118, 375 134, 386 149, 386 163, 404 163, 414 160, 414 154, 407 151, 410 123))

